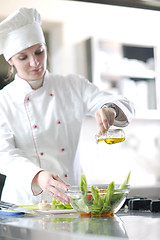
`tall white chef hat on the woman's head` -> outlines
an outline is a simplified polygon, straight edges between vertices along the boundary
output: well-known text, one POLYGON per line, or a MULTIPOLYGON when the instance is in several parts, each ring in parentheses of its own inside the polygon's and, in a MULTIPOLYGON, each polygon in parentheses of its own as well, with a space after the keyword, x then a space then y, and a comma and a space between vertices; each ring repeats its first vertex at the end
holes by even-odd
POLYGON ((45 43, 45 38, 35 8, 20 8, 0 23, 0 54, 6 61, 37 43, 45 43))

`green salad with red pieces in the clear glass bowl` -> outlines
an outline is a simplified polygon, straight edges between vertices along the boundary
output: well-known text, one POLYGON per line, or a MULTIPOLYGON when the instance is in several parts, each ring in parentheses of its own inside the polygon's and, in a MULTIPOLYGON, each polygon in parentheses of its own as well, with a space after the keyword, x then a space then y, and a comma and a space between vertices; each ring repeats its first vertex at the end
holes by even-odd
POLYGON ((92 185, 91 189, 88 190, 86 177, 82 173, 80 194, 71 195, 71 204, 78 211, 86 214, 113 213, 113 210, 118 207, 120 202, 123 204, 123 200, 126 198, 129 178, 130 172, 118 188, 112 181, 106 189, 98 189, 92 185))

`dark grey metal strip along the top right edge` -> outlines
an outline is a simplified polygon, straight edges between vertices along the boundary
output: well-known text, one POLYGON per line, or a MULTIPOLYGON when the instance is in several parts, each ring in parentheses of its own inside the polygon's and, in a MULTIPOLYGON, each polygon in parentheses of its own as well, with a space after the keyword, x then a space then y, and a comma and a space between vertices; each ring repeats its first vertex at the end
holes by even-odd
POLYGON ((72 0, 79 2, 101 3, 123 7, 133 7, 160 11, 160 2, 156 0, 72 0))

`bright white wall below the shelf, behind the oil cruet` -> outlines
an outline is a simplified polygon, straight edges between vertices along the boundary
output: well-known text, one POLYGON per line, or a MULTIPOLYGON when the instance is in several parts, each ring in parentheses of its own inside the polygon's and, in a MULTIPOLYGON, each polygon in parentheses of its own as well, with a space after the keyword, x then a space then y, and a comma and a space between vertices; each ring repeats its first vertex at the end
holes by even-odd
POLYGON ((122 182, 131 170, 131 186, 160 184, 160 121, 134 119, 123 129, 122 143, 96 144, 98 127, 86 118, 82 131, 81 159, 89 183, 122 182), (88 127, 89 126, 89 127, 88 127))

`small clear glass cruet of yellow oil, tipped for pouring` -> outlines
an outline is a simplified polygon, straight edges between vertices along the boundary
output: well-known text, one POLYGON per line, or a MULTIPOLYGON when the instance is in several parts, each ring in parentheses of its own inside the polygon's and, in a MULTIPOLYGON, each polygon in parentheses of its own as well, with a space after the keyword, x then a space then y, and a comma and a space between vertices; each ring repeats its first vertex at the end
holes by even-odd
POLYGON ((109 129, 103 135, 96 135, 96 143, 98 144, 101 141, 106 142, 107 144, 114 144, 123 142, 125 140, 125 133, 122 129, 109 129))

